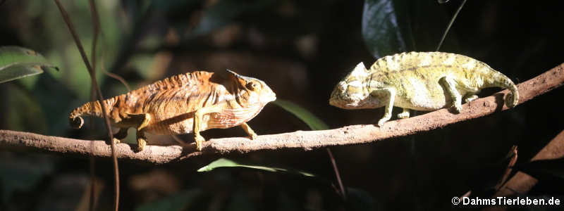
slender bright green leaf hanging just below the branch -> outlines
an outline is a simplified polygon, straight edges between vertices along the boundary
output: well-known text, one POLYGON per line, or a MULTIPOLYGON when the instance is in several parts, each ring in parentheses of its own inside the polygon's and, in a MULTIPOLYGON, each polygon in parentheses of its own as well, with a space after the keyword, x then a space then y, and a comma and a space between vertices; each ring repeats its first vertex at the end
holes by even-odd
POLYGON ((208 165, 201 167, 198 170, 198 172, 209 172, 219 167, 244 167, 244 168, 250 168, 255 170, 264 170, 267 172, 284 172, 288 174, 298 174, 305 177, 317 177, 315 174, 309 172, 303 172, 300 170, 292 170, 292 169, 279 168, 279 167, 265 167, 260 165, 252 165, 249 163, 245 164, 242 162, 235 162, 233 160, 229 160, 226 158, 219 158, 218 160, 215 160, 214 162, 211 162, 208 165))

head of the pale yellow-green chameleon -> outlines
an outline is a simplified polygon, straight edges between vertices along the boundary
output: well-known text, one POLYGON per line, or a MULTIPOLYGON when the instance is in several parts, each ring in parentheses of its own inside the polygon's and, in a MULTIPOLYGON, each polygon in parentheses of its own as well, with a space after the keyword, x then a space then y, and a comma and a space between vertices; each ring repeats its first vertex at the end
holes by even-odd
POLYGON ((364 63, 358 63, 353 72, 350 72, 333 89, 329 104, 345 109, 369 108, 371 105, 367 89, 369 75, 364 63))

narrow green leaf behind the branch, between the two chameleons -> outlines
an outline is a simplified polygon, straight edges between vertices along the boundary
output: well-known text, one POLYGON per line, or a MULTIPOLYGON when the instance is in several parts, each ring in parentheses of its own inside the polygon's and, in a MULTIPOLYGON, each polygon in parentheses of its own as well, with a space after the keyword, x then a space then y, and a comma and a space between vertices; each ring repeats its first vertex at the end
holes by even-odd
POLYGON ((281 99, 277 99, 272 103, 274 103, 276 106, 280 106, 284 110, 287 110, 289 113, 292 113, 293 115, 298 117, 312 130, 329 129, 329 126, 327 126, 325 122, 320 120, 314 114, 310 113, 308 110, 305 110, 305 108, 296 105, 295 103, 281 99))

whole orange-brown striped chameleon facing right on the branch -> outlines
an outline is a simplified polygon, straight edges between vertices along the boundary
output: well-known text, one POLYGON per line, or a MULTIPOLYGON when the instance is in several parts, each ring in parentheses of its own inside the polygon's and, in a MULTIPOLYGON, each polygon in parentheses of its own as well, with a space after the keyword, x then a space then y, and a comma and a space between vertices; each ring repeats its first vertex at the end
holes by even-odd
MULTIPOLYGON (((127 129, 137 129, 137 150, 151 134, 193 133, 198 150, 205 139, 201 131, 240 125, 250 139, 257 134, 246 123, 276 100, 276 94, 264 82, 238 75, 231 70, 222 75, 214 72, 188 72, 162 79, 140 89, 103 101, 110 122, 119 128, 114 141, 125 139, 127 129)), ((69 115, 76 129, 82 127, 82 115, 102 117, 99 101, 85 103, 69 115)))

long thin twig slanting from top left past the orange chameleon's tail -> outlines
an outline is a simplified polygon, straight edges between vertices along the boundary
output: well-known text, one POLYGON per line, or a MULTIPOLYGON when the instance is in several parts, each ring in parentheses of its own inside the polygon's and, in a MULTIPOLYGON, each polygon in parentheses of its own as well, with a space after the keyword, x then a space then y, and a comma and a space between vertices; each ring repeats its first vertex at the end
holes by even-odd
MULTIPOLYGON (((59 2, 59 0, 54 0, 55 4, 57 5, 57 7, 59 7, 59 11, 61 11, 61 15, 63 16, 63 20, 65 20, 65 23, 68 27, 68 30, 71 32, 71 35, 73 36, 73 39, 75 41, 75 44, 78 48, 78 51, 80 52, 80 56, 82 56, 82 60, 84 61, 86 68, 88 70, 88 72, 90 73, 90 78, 92 79, 92 87, 96 88, 96 92, 98 95, 98 100, 100 105, 102 106, 102 110, 106 110, 106 106, 104 104, 104 97, 102 96, 102 91, 100 91, 100 87, 98 87, 98 82, 96 80, 96 75, 94 75, 94 69, 92 68, 92 66, 90 65, 90 62, 88 61, 88 58, 86 56, 86 52, 84 51, 84 47, 82 47, 82 43, 80 42, 80 39, 78 38, 78 34, 76 33, 75 27, 73 26, 73 23, 71 22, 71 18, 68 17, 68 13, 65 11, 65 8, 63 8, 63 6, 61 5, 61 2, 59 2)), ((116 146, 114 143, 114 134, 112 134, 111 132, 111 126, 110 126, 110 122, 108 117, 106 116, 105 112, 102 112, 102 116, 104 117, 104 122, 106 122, 106 127, 108 129, 108 136, 110 139, 110 143, 111 143, 111 157, 112 160, 114 162, 114 181, 115 181, 115 198, 114 198, 114 210, 117 211, 118 210, 118 205, 119 205, 119 170, 118 170, 118 160, 116 158, 116 146)))

